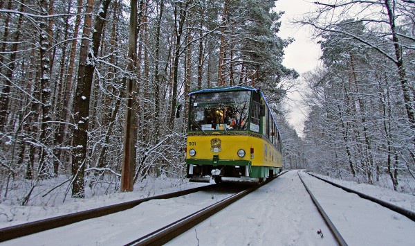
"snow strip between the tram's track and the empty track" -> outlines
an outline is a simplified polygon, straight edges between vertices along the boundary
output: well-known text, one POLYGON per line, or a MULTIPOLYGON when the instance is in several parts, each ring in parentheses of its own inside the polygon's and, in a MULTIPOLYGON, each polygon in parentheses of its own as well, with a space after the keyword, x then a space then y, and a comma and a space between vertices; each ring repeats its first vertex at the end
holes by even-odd
POLYGON ((168 245, 336 245, 296 171, 208 218, 168 245), (322 230, 324 238, 317 231, 322 230))

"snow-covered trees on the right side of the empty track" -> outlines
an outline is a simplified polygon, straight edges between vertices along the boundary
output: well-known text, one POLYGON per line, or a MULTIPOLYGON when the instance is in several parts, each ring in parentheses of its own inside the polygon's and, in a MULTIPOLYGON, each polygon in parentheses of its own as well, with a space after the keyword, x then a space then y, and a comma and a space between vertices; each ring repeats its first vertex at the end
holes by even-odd
POLYGON ((331 1, 301 24, 321 37, 322 68, 304 76, 311 169, 414 193, 415 2, 331 1))

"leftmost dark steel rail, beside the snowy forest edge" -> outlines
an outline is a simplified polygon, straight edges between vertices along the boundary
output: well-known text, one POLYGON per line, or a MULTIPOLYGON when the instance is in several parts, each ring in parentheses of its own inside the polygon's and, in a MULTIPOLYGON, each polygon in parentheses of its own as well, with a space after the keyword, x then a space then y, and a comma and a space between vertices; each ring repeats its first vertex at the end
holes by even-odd
POLYGON ((70 225, 75 222, 80 222, 82 220, 89 220, 91 218, 98 218, 100 216, 107 216, 111 213, 118 213, 127 209, 136 207, 142 202, 147 202, 153 199, 169 199, 172 197, 178 197, 182 195, 187 195, 190 193, 195 193, 197 191, 205 191, 209 188, 218 186, 218 184, 211 184, 208 186, 201 186, 196 188, 190 188, 185 191, 177 191, 174 193, 168 193, 164 195, 156 195, 154 197, 147 197, 139 200, 133 200, 129 202, 122 202, 120 204, 113 204, 106 207, 100 207, 97 209, 89 209, 86 211, 81 211, 77 213, 69 213, 64 216, 57 216, 53 218, 47 218, 44 220, 37 220, 33 222, 28 222, 21 225, 15 225, 12 227, 4 227, 0 229, 0 242, 6 240, 19 238, 21 236, 28 236, 30 234, 35 234, 37 232, 46 231, 48 229, 53 229, 57 227, 63 227, 65 225, 70 225))

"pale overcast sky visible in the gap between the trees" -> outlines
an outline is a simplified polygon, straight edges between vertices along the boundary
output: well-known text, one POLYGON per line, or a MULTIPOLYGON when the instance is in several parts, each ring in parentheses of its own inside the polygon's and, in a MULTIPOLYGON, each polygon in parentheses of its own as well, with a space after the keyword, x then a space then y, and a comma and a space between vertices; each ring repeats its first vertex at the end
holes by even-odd
MULTIPOLYGON (((317 44, 317 40, 312 39, 311 30, 293 26, 290 22, 293 19, 300 19, 315 4, 312 1, 304 0, 278 0, 275 2, 275 6, 277 11, 285 12, 282 16, 282 26, 278 36, 282 38, 293 37, 295 39, 295 42, 284 50, 285 55, 282 63, 285 67, 297 70, 300 74, 299 82, 301 82, 302 73, 311 71, 319 65, 320 45, 317 44)), ((306 116, 304 109, 299 107, 299 94, 295 92, 288 94, 288 98, 290 100, 287 101, 287 106, 291 110, 288 119, 301 136, 306 116)))

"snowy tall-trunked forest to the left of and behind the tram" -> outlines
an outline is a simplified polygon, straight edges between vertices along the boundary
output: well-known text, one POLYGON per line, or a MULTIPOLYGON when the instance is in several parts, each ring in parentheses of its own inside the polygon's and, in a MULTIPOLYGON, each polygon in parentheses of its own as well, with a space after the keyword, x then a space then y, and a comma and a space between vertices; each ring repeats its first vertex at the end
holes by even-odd
POLYGON ((187 116, 172 116, 189 91, 218 85, 221 37, 225 85, 259 81, 277 107, 281 80, 297 76, 281 64, 291 40, 277 36, 274 1, 137 1, 133 53, 126 4, 1 1, 1 200, 12 179, 28 184, 26 204, 33 186, 56 175, 74 197, 95 186, 119 191, 127 105, 138 129, 133 182, 183 177, 187 116))

